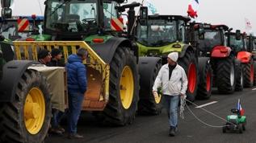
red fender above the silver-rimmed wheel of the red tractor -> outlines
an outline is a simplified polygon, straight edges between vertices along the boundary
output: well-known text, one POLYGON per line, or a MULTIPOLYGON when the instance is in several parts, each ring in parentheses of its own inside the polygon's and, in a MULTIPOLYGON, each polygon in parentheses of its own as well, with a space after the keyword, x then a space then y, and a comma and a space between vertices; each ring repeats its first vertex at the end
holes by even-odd
POLYGON ((213 47, 212 49, 212 58, 226 58, 229 57, 231 53, 231 48, 230 47, 225 47, 225 46, 216 46, 213 47))

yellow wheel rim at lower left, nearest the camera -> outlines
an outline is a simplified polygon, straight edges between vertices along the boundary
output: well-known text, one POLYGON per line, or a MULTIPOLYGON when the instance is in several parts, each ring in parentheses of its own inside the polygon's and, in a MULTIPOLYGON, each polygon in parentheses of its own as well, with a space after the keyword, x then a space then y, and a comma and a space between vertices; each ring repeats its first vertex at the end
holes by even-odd
POLYGON ((31 88, 28 92, 23 112, 27 131, 31 134, 39 133, 45 116, 44 94, 39 88, 31 88))

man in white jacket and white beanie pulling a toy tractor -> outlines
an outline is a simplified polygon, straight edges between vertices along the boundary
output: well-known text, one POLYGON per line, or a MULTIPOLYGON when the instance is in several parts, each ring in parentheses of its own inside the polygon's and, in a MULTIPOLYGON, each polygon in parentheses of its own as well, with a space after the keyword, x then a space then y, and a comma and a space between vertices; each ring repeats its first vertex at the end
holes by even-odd
POLYGON ((178 52, 171 52, 167 62, 158 72, 153 84, 153 95, 157 96, 157 88, 162 87, 162 95, 166 100, 166 110, 169 117, 170 136, 175 136, 178 124, 178 102, 180 96, 187 91, 187 76, 183 67, 178 65, 178 52))

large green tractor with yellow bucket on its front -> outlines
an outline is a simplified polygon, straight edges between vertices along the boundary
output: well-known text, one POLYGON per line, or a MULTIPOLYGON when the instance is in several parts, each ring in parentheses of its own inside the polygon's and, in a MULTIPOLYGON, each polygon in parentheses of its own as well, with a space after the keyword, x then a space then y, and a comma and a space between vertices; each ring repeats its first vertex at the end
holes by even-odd
MULTIPOLYGON (((82 109, 92 111, 99 121, 110 125, 132 124, 140 100, 140 59, 133 25, 134 8, 141 4, 121 6, 123 3, 124 0, 47 0, 43 33, 32 35, 27 42, 15 42, 17 53, 28 47, 27 51, 34 51, 31 57, 35 60, 36 47, 49 51, 60 48, 65 62, 79 47, 86 48, 88 90, 82 109), (126 9, 128 31, 123 31, 120 16, 126 9)), ((159 60, 150 59, 154 63, 159 60)))

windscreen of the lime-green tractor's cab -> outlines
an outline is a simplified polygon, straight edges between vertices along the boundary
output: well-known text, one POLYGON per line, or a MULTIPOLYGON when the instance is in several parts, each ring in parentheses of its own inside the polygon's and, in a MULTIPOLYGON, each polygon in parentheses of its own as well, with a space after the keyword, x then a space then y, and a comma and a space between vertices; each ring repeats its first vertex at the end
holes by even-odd
POLYGON ((147 46, 162 47, 177 40, 176 22, 149 20, 148 26, 138 24, 138 42, 147 46))

